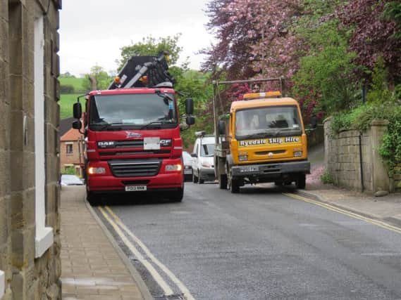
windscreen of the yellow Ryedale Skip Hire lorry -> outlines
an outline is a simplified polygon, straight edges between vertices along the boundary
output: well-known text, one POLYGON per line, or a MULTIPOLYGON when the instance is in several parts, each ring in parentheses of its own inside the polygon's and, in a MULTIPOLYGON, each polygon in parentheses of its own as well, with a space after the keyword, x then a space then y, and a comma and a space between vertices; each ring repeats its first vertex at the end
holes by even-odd
POLYGON ((296 106, 254 107, 238 110, 235 114, 237 140, 301 133, 300 115, 296 106))

